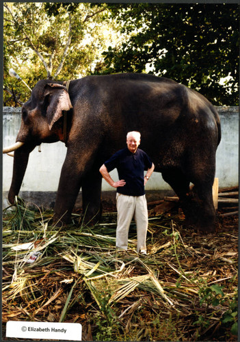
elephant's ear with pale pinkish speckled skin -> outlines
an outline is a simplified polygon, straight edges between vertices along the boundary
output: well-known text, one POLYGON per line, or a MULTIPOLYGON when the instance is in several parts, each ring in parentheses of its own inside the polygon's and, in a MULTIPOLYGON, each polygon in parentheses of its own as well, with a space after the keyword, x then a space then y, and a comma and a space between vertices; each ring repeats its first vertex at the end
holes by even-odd
POLYGON ((45 96, 49 96, 46 119, 49 124, 49 129, 51 130, 53 124, 63 115, 62 112, 72 108, 72 103, 66 87, 58 83, 48 83, 46 85, 45 96))

